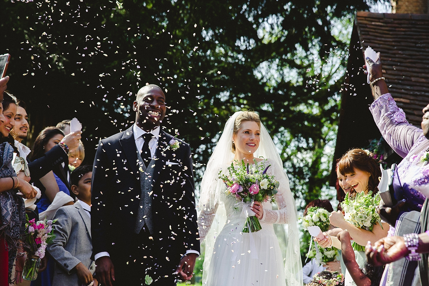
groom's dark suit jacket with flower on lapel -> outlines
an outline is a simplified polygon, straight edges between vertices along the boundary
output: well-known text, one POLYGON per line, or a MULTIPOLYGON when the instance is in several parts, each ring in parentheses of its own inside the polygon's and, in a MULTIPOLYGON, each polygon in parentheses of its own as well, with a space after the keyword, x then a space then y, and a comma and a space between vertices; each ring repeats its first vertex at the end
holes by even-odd
MULTIPOLYGON (((154 243, 178 253, 199 250, 189 144, 166 150, 173 137, 160 130, 153 175, 152 220, 154 243), (165 150, 165 151, 164 151, 165 150), (166 162, 178 164, 166 165, 166 162)), ((91 232, 93 257, 129 246, 141 197, 133 126, 99 142, 92 173, 91 232)))

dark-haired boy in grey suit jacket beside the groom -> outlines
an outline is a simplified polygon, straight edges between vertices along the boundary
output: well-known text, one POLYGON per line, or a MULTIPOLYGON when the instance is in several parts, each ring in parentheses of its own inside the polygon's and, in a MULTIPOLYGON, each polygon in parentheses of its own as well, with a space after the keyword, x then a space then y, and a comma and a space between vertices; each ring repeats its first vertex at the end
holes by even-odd
POLYGON ((55 213, 53 243, 46 248, 55 260, 53 286, 82 286, 92 283, 95 271, 91 260, 91 176, 92 166, 77 167, 70 176, 71 189, 78 199, 55 213))

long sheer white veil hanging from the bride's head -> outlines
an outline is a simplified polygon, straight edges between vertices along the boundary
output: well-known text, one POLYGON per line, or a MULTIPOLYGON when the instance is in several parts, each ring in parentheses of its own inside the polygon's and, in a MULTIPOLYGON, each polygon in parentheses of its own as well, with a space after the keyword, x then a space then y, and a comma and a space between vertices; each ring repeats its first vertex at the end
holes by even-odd
MULTIPOLYGON (((199 210, 215 209, 217 211, 211 224, 210 230, 205 236, 205 259, 203 265, 203 285, 207 277, 207 270, 210 268, 211 255, 215 244, 216 236, 221 232, 226 221, 225 206, 222 202, 224 183, 218 179, 219 170, 226 169, 233 161, 232 152, 233 128, 236 117, 242 111, 234 113, 228 119, 224 132, 221 135, 205 169, 200 186, 199 210)), ((284 196, 287 203, 287 213, 289 223, 284 225, 274 225, 279 245, 284 258, 284 274, 287 286, 302 286, 302 264, 299 250, 299 231, 297 225, 297 212, 295 199, 289 187, 289 179, 283 168, 283 162, 278 154, 268 131, 261 123, 260 145, 254 157, 270 159, 271 171, 280 183, 278 191, 284 196)), ((201 229, 200 229, 200 232, 201 229)))

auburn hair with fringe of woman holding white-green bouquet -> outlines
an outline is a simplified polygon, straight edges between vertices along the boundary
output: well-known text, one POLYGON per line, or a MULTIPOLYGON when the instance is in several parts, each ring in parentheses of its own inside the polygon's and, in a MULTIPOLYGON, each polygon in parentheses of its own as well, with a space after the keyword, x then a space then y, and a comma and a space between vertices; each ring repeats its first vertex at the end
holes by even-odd
POLYGON ((352 149, 338 161, 338 170, 343 176, 354 173, 356 169, 371 174, 368 180, 368 190, 372 191, 372 194, 376 194, 381 170, 378 161, 374 159, 374 154, 363 149, 352 149))

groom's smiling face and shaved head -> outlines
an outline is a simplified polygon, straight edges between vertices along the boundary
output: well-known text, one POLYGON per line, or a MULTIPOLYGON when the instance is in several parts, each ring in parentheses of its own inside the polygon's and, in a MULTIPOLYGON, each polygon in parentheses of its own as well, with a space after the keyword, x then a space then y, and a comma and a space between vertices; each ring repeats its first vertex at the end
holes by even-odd
POLYGON ((151 131, 160 125, 166 113, 165 95, 160 87, 149 84, 137 93, 133 104, 137 126, 151 131))

